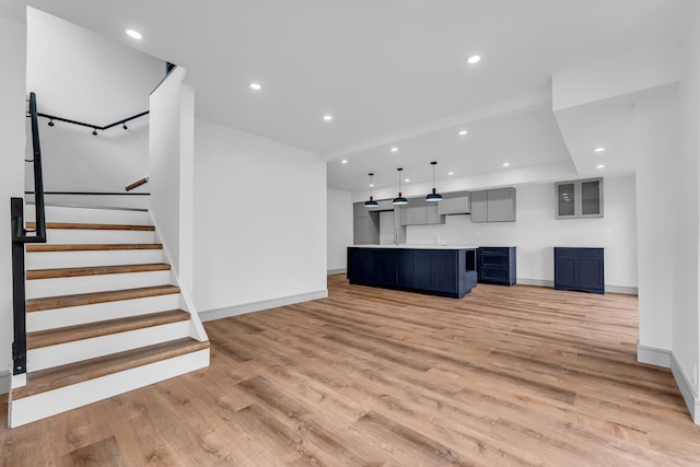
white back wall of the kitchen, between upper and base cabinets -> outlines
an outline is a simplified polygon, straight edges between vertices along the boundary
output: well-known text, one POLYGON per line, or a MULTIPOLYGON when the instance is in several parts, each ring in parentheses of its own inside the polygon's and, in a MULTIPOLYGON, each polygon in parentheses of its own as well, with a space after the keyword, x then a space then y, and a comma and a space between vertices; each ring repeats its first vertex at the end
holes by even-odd
POLYGON ((445 224, 409 225, 407 243, 516 246, 517 280, 551 284, 553 246, 605 248, 608 288, 637 288, 634 177, 604 178, 604 218, 555 218, 555 185, 516 187, 516 222, 472 223, 470 215, 447 215, 445 224))

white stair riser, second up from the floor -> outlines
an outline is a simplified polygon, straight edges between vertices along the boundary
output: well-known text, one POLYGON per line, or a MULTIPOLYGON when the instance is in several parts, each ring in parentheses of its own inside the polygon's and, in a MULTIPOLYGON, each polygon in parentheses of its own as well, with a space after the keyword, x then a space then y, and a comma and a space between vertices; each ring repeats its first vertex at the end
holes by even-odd
POLYGON ((32 349, 26 352, 26 369, 30 373, 37 372, 183 337, 189 337, 189 322, 171 323, 32 349))

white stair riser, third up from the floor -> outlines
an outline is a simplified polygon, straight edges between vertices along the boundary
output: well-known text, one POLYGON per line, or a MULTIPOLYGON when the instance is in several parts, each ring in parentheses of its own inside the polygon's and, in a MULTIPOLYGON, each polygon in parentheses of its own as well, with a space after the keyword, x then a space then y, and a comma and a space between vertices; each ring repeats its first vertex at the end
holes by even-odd
POLYGON ((172 293, 168 295, 45 310, 26 314, 26 330, 27 332, 35 332, 37 330, 167 312, 179 307, 179 294, 172 293))

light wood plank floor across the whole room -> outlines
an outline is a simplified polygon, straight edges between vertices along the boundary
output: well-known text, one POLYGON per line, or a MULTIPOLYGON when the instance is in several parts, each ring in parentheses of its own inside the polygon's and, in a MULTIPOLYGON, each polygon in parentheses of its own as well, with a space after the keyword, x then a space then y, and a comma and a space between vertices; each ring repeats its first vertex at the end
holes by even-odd
POLYGON ((206 324, 209 369, 0 428, 0 465, 700 465, 669 371, 635 363, 633 296, 329 295, 206 324))

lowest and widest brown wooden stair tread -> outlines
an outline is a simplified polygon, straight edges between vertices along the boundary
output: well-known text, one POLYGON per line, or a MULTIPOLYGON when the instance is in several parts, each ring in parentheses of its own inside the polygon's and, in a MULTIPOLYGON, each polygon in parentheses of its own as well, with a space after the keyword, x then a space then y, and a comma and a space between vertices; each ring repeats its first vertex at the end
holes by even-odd
POLYGON ((200 342, 186 337, 155 346, 27 373, 26 386, 12 389, 12 399, 18 400, 208 348, 209 341, 200 342))

